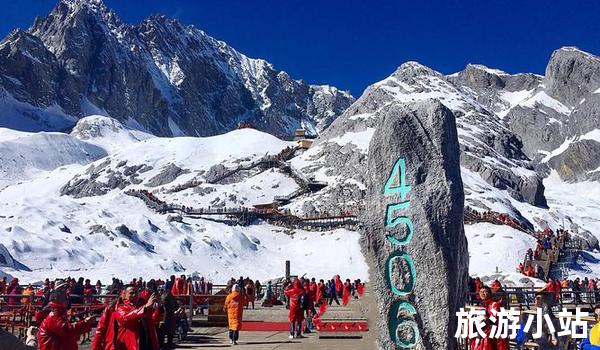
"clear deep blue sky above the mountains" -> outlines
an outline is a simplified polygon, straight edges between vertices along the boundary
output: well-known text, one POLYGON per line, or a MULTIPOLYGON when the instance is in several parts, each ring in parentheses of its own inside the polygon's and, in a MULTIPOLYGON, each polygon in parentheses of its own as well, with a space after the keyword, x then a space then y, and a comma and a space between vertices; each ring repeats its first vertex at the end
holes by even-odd
MULTIPOLYGON (((105 0, 126 22, 177 17, 294 78, 359 96, 401 63, 443 73, 481 63, 543 74, 552 51, 600 54, 600 1, 105 0)), ((2 0, 0 35, 27 28, 55 1, 2 0)))

